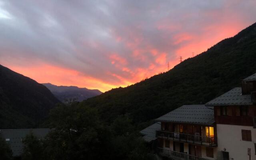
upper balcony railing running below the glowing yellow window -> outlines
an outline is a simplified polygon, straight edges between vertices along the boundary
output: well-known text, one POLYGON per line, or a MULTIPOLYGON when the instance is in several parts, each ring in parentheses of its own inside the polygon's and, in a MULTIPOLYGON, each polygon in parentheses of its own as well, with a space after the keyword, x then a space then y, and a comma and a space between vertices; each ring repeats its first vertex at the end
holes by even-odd
POLYGON ((216 138, 199 136, 199 135, 195 135, 195 134, 184 134, 184 133, 176 133, 176 132, 157 130, 156 137, 166 138, 169 140, 180 141, 180 142, 200 144, 200 145, 204 145, 204 146, 217 146, 216 138))

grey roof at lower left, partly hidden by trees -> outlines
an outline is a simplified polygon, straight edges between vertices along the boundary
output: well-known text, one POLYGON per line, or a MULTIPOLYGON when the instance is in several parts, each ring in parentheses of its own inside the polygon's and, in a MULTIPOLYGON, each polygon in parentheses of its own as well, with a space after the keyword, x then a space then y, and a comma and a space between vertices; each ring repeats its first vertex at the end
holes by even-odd
POLYGON ((50 129, 10 129, 10 130, 0 130, 0 137, 4 138, 6 142, 10 145, 12 149, 12 156, 20 156, 22 154, 23 143, 22 139, 26 137, 27 134, 32 132, 38 139, 43 139, 50 129))

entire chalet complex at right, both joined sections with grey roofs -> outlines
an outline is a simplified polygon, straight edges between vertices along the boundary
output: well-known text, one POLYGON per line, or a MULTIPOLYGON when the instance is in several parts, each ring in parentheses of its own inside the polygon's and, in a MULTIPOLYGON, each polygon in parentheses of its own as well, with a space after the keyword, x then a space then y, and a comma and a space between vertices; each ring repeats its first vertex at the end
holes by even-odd
POLYGON ((205 105, 181 106, 156 122, 162 159, 256 160, 256 74, 205 105))

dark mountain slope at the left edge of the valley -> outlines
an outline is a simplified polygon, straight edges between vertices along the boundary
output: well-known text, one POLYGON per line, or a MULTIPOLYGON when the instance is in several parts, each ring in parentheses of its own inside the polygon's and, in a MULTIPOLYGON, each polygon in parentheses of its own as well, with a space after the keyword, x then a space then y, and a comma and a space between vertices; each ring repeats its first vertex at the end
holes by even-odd
POLYGON ((44 85, 0 65, 0 129, 36 127, 57 103, 44 85))

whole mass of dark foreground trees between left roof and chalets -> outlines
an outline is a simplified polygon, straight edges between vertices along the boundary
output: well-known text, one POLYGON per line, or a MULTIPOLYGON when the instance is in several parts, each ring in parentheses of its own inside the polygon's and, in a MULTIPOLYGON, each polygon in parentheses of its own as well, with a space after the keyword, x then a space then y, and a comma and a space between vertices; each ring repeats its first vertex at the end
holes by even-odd
POLYGON ((28 135, 23 160, 151 160, 142 138, 127 116, 112 125, 101 122, 95 108, 77 102, 61 104, 50 112, 54 128, 43 141, 28 135), (121 126, 120 126, 121 125, 121 126))

